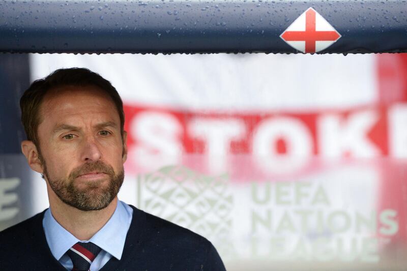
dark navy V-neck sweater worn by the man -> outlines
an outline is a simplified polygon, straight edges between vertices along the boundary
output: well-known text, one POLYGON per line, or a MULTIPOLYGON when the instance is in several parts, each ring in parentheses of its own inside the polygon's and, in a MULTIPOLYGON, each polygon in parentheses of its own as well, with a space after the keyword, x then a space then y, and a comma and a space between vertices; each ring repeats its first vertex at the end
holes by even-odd
MULTIPOLYGON (((131 207, 133 219, 122 259, 112 257, 101 271, 225 270, 207 239, 131 207)), ((0 270, 66 270, 48 247, 42 227, 44 212, 0 232, 0 270)))

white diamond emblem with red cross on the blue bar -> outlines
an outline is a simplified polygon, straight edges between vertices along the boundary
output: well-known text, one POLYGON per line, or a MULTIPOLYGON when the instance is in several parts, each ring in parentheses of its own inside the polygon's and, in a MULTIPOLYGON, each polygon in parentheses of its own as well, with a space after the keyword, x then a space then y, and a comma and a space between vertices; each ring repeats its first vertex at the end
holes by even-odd
POLYGON ((335 28, 313 8, 307 9, 280 35, 289 46, 303 53, 322 51, 340 37, 335 28))

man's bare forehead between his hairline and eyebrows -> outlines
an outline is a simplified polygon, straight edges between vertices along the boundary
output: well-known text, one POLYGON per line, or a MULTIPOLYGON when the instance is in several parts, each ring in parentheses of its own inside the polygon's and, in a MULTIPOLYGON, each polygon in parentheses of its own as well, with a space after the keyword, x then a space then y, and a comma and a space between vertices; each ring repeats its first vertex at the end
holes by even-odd
POLYGON ((97 86, 63 86, 50 89, 40 108, 41 122, 49 117, 100 112, 119 118, 112 98, 97 86))

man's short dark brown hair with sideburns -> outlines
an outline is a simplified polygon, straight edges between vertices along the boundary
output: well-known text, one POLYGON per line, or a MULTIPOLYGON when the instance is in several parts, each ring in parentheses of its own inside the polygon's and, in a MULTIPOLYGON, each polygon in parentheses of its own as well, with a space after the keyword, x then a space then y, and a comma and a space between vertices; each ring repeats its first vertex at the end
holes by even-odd
POLYGON ((85 68, 59 69, 43 79, 34 81, 20 99, 21 122, 28 140, 39 147, 38 126, 41 123, 40 108, 45 95, 63 86, 97 86, 113 100, 120 116, 123 139, 124 111, 123 101, 112 84, 99 74, 85 68))

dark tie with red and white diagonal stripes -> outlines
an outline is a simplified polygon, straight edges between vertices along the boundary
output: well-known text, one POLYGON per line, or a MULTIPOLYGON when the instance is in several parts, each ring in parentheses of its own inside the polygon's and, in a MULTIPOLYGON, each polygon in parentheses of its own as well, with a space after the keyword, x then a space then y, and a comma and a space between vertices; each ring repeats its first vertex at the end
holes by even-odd
POLYGON ((73 263, 72 271, 88 271, 102 249, 93 243, 76 243, 67 251, 73 263))

